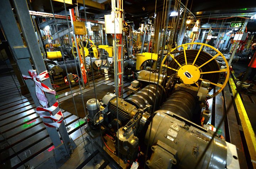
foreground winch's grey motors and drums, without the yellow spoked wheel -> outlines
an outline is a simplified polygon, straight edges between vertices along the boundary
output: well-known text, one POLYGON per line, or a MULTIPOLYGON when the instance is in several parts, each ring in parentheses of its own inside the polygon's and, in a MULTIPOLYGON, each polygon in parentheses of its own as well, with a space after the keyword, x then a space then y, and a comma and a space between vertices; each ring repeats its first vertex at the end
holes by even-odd
MULTIPOLYGON (((112 136, 115 150, 108 153, 119 154, 124 164, 137 161, 151 169, 239 168, 236 146, 213 137, 212 130, 193 122, 198 114, 200 118, 209 82, 188 87, 178 83, 179 77, 174 75, 169 79, 161 76, 161 83, 156 84, 150 81, 159 75, 148 73, 143 72, 138 79, 145 87, 125 100, 107 93, 100 103, 94 99, 98 106, 87 102, 87 121, 92 130, 106 126, 104 133, 116 133, 112 136)), ((92 131, 86 131, 91 135, 92 131)))

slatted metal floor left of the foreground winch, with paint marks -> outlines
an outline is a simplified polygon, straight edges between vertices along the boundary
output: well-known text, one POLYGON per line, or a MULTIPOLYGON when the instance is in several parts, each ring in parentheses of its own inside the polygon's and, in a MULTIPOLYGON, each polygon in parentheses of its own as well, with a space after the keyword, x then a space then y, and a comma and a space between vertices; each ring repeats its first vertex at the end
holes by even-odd
MULTIPOLYGON (((31 96, 29 94, 26 96, 21 95, 17 78, 15 76, 13 78, 14 80, 10 74, 0 76, 0 168, 24 168, 23 164, 28 164, 30 168, 35 168, 53 156, 54 152, 52 150, 54 147, 41 118, 35 112, 36 107, 31 96)), ((95 80, 96 86, 102 83, 114 85, 114 76, 105 74, 104 77, 95 80)), ((127 89, 129 85, 130 82, 124 81, 124 97, 128 97, 130 94, 127 89)), ((83 89, 82 93, 93 89, 92 81, 90 81, 90 86, 83 89)), ((80 89, 73 89, 73 94, 76 92, 79 94, 80 89)), ((69 91, 68 95, 65 96, 65 93, 62 93, 58 94, 57 97, 62 102, 71 98, 72 95, 69 91)), ((68 130, 70 137, 78 147, 79 145, 84 145, 81 130, 86 138, 87 134, 84 132, 85 120, 80 119, 79 124, 77 116, 64 110, 63 114, 66 126, 70 128, 68 130)), ((88 139, 85 141, 87 141, 86 144, 89 144, 88 139)), ((83 148, 84 146, 80 147, 80 149, 78 148, 78 151, 83 148)), ((86 159, 90 158, 87 157, 86 159)), ((77 165, 81 165, 82 162, 79 161, 77 165)), ((88 161, 88 164, 85 165, 89 164, 90 162, 88 161)), ((73 162, 72 166, 74 167, 73 162)), ((52 165, 52 167, 55 168, 56 166, 52 165)))

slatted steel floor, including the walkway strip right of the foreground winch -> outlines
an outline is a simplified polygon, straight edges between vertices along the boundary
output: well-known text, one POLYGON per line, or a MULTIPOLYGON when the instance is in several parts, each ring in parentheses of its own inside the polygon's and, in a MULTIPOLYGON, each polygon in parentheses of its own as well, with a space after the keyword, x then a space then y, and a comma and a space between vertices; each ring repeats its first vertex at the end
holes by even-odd
MULTIPOLYGON (((0 168, 25 168, 28 165, 29 168, 45 168, 45 166, 49 168, 118 168, 107 153, 102 151, 101 141, 95 140, 96 144, 93 144, 94 147, 91 146, 91 140, 84 131, 85 120, 80 119, 79 123, 77 116, 66 111, 63 111, 65 124, 70 128, 68 133, 78 148, 64 165, 55 164, 53 144, 42 120, 35 112, 36 107, 31 96, 20 94, 19 84, 14 75, 11 77, 9 73, 2 74, 0 81, 0 168), (95 158, 97 159, 96 165, 93 164, 95 158), (42 163, 43 165, 40 165, 42 163)), ((113 75, 105 74, 104 77, 95 80, 96 86, 102 83, 114 85, 113 75)), ((129 85, 130 82, 124 82, 124 98, 130 95, 127 88, 129 85)), ((82 93, 90 89, 93 89, 92 81, 90 87, 83 89, 82 93)), ((80 89, 73 89, 73 93, 76 92, 79 93, 80 89)), ((72 97, 70 91, 66 96, 65 93, 58 94, 60 102, 70 97, 72 97)), ((212 113, 210 121, 214 126, 218 126, 222 116, 227 115, 219 134, 222 134, 226 141, 236 145, 240 168, 246 168, 249 164, 246 160, 250 158, 245 156, 248 154, 248 148, 236 106, 232 103, 233 99, 230 85, 226 85, 222 93, 208 100, 212 113), (227 112, 229 104, 232 106, 227 112)))

